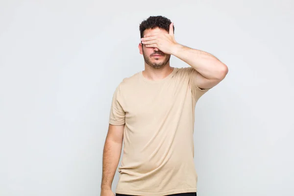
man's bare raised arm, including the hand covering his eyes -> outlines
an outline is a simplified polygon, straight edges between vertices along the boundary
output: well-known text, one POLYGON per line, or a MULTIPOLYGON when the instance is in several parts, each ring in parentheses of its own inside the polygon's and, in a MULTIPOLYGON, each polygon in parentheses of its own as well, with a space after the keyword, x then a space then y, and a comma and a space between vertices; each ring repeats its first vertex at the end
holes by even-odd
POLYGON ((169 33, 149 33, 141 38, 141 41, 146 47, 172 54, 193 67, 197 73, 200 73, 195 74, 194 80, 201 89, 214 87, 228 73, 228 67, 214 55, 178 44, 174 39, 173 23, 170 25, 169 33))

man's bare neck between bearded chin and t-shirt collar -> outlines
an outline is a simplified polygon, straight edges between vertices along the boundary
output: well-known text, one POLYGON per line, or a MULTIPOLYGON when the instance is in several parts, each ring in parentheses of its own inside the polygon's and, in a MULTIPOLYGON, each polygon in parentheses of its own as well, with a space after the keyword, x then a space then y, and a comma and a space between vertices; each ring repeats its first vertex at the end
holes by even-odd
POLYGON ((152 68, 149 65, 145 65, 145 70, 142 72, 143 76, 149 80, 161 80, 167 77, 169 74, 172 73, 173 67, 170 65, 165 65, 160 69, 152 68))

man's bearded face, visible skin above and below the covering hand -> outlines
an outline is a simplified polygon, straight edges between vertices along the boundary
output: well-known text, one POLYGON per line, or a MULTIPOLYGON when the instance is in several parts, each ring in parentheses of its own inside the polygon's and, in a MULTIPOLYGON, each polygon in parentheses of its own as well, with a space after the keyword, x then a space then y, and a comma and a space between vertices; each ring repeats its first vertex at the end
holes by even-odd
MULTIPOLYGON (((169 33, 160 28, 146 29, 144 35, 147 33, 169 33)), ((171 55, 163 53, 157 48, 148 48, 144 44, 139 44, 140 53, 143 54, 145 62, 155 69, 164 67, 170 60, 171 55)))

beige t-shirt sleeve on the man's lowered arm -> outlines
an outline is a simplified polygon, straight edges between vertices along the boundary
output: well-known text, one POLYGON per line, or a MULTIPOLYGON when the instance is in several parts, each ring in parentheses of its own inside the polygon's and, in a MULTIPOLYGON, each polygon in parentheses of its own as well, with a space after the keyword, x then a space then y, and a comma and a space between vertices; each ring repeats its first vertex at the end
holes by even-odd
POLYGON ((122 107, 121 89, 118 86, 113 94, 109 124, 112 125, 123 125, 125 123, 125 112, 122 107))

